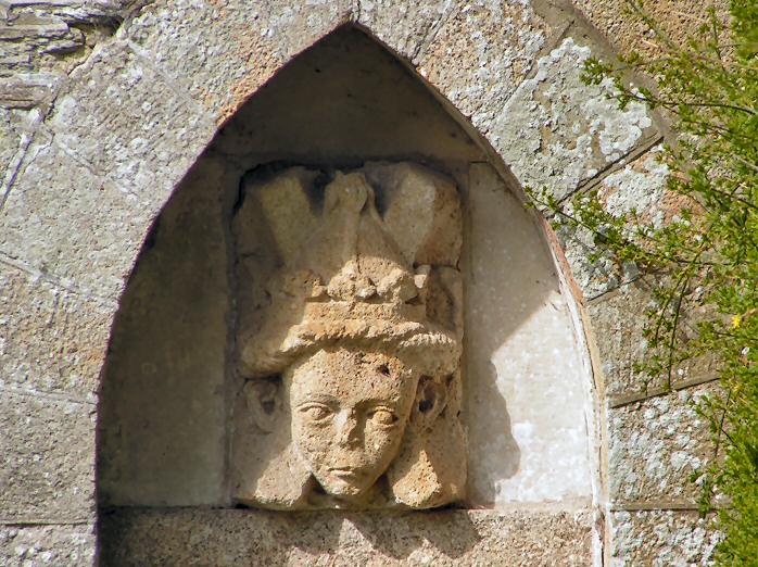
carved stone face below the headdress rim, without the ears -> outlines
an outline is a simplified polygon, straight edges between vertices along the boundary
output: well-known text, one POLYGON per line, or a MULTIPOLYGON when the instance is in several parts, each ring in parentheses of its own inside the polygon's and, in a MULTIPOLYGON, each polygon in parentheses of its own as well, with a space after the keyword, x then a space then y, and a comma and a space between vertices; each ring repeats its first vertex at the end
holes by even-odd
POLYGON ((345 349, 319 351, 287 370, 292 439, 329 494, 358 497, 387 470, 418 380, 395 357, 345 349))

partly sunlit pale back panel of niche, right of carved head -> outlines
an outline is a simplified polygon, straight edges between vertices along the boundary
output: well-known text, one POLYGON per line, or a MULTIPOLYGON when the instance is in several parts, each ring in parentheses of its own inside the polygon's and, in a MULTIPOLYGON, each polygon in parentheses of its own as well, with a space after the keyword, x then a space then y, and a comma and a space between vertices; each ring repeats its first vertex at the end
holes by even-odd
POLYGON ((476 164, 469 179, 469 502, 589 506, 595 416, 567 293, 538 227, 495 171, 476 164))

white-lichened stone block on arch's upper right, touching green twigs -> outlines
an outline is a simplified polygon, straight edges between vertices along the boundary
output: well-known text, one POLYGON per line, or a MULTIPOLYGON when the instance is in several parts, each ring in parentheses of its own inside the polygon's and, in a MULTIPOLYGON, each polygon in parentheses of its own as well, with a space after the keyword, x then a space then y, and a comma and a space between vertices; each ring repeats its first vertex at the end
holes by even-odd
POLYGON ((536 63, 492 123, 488 137, 523 186, 557 198, 629 153, 652 126, 642 104, 619 110, 612 86, 581 80, 589 47, 567 38, 536 63))

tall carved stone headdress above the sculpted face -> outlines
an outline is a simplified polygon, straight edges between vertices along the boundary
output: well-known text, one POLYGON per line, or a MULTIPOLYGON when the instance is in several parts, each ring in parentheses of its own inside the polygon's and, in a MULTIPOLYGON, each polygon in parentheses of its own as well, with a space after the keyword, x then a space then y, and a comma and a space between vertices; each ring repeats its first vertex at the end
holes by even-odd
POLYGON ((424 374, 454 371, 462 343, 455 186, 407 163, 338 172, 326 187, 318 176, 293 167, 247 189, 243 207, 255 211, 238 214, 248 218, 236 225, 238 252, 260 259, 255 249, 273 245, 278 265, 265 282, 258 274, 240 280, 241 373, 276 374, 332 343, 384 351, 424 374))

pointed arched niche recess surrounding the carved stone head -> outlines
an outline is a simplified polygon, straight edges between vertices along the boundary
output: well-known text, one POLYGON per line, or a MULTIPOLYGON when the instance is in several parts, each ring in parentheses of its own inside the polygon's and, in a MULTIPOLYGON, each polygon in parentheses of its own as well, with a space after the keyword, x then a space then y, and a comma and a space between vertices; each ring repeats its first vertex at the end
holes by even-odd
POLYGON ((106 560, 166 557, 136 543, 155 529, 144 518, 233 506, 231 219, 245 174, 377 161, 440 172, 463 202, 468 484, 456 506, 583 512, 589 546, 596 470, 582 333, 541 225, 492 154, 419 77, 350 26, 286 65, 223 125, 152 227, 112 331, 98 457, 106 560))

